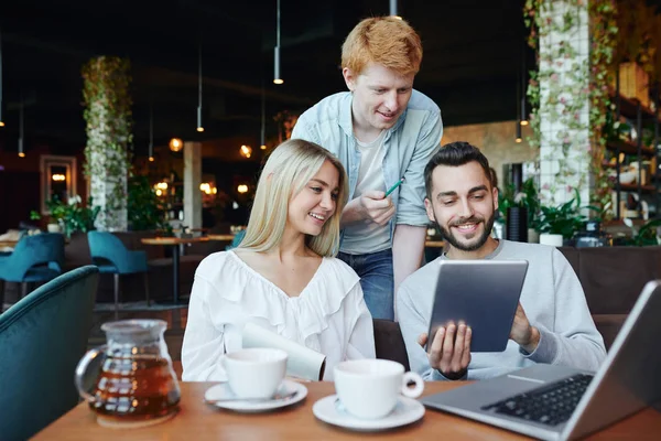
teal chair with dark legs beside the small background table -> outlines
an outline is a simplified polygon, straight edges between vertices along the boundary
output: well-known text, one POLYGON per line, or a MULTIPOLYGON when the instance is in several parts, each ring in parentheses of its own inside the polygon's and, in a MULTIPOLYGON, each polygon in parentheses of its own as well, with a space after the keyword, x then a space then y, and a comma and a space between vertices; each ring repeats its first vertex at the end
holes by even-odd
POLYGON ((91 262, 99 267, 99 272, 111 273, 115 277, 115 316, 119 309, 119 276, 144 273, 144 291, 149 306, 149 277, 147 252, 131 251, 122 244, 119 237, 106 232, 87 233, 91 262))

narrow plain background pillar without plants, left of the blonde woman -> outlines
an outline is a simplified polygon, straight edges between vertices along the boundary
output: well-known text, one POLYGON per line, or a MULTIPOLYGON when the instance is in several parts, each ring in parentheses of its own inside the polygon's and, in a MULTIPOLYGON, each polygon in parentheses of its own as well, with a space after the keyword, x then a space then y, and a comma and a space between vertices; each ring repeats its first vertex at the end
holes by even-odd
POLYGON ((184 225, 202 228, 202 143, 184 142, 184 225))

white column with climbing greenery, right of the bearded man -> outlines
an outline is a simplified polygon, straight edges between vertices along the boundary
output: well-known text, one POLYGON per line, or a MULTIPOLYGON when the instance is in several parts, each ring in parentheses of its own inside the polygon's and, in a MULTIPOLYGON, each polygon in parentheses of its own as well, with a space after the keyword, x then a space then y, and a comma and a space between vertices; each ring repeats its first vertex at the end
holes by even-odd
MULTIPOLYGON (((544 21, 565 23, 564 14, 571 8, 567 1, 545 0, 544 6, 544 21)), ((550 205, 573 198, 573 189, 578 189, 584 206, 589 202, 590 187, 589 101, 576 90, 588 86, 587 1, 572 8, 579 8, 578 20, 564 32, 551 30, 552 26, 546 28, 548 33, 540 32, 540 186, 543 203, 550 205), (559 86, 564 90, 561 94, 556 93, 559 86), (573 121, 581 122, 581 127, 576 128, 573 121)), ((572 15, 576 15, 576 9, 572 15)))

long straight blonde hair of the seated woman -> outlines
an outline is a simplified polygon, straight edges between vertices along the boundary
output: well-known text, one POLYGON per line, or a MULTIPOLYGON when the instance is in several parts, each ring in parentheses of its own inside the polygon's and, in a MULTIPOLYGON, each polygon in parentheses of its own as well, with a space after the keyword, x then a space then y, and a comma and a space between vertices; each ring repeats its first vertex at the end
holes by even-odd
POLYGON ((305 245, 323 257, 337 254, 339 219, 348 198, 347 173, 330 152, 302 139, 284 141, 269 157, 257 184, 246 237, 239 248, 269 251, 280 245, 290 200, 307 185, 325 161, 335 165, 339 174, 335 213, 326 220, 318 236, 305 237, 305 245))

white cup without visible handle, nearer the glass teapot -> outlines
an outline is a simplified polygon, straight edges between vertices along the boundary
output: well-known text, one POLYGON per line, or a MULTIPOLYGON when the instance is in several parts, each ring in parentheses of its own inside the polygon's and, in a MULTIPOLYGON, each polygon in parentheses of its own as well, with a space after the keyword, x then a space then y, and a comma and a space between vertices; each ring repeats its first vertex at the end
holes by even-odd
POLYGON ((239 398, 270 398, 284 379, 286 353, 254 347, 228 353, 223 358, 229 387, 239 398))

